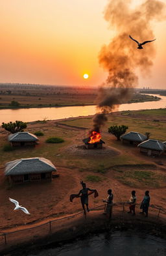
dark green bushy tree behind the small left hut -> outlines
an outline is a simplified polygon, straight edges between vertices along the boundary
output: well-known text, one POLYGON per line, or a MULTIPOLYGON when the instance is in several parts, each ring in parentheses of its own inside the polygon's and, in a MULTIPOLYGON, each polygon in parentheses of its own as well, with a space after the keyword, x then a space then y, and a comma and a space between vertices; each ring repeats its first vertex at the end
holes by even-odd
POLYGON ((3 122, 2 128, 6 131, 11 132, 11 134, 16 134, 16 132, 23 132, 24 128, 27 128, 26 122, 16 121, 16 122, 3 122))

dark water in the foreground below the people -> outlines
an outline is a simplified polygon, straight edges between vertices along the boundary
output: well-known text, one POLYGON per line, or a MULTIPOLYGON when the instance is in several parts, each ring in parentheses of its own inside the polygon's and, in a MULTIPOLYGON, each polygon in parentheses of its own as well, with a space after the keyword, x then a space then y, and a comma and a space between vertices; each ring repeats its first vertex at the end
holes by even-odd
MULTIPOLYGON (((42 249, 36 256, 165 256, 166 243, 150 235, 117 231, 78 240, 62 247, 42 249)), ((34 256, 29 254, 28 256, 34 256)))

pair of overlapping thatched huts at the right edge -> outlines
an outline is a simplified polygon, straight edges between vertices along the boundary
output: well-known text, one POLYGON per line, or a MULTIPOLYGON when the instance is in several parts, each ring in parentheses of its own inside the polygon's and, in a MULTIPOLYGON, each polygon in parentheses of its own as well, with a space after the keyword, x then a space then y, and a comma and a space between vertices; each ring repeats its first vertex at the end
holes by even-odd
POLYGON ((166 141, 161 142, 157 139, 147 139, 146 135, 139 132, 128 132, 122 135, 121 140, 125 144, 136 145, 140 152, 148 156, 161 156, 166 152, 166 141))

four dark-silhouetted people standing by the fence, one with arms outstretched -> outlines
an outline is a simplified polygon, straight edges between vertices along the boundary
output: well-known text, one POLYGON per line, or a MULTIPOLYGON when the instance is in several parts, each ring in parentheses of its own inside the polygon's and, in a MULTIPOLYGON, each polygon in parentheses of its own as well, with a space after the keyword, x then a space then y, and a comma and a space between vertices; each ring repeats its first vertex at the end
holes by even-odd
MULTIPOLYGON (((89 206, 88 206, 88 196, 91 193, 95 193, 95 197, 98 196, 97 190, 91 190, 90 188, 86 187, 86 183, 84 182, 80 182, 80 184, 82 184, 82 190, 80 190, 80 192, 78 194, 72 194, 70 196, 70 201, 73 201, 73 198, 75 197, 80 197, 80 201, 82 204, 82 208, 84 210, 84 214, 86 214, 86 209, 87 212, 89 212, 89 206), (86 205, 86 208, 85 208, 86 205)), ((135 212, 135 208, 136 208, 136 191, 132 190, 131 196, 130 196, 130 200, 129 200, 129 212, 128 214, 132 214, 132 215, 136 215, 135 212)), ((108 218, 112 218, 112 206, 113 206, 113 193, 112 190, 109 189, 108 190, 108 197, 107 199, 103 200, 104 203, 106 203, 106 208, 104 210, 104 214, 106 214, 106 216, 108 216, 108 218)), ((141 212, 139 212, 140 214, 144 214, 145 216, 148 217, 148 206, 150 203, 150 195, 149 195, 149 191, 145 191, 145 196, 143 197, 143 201, 141 202, 141 212)))

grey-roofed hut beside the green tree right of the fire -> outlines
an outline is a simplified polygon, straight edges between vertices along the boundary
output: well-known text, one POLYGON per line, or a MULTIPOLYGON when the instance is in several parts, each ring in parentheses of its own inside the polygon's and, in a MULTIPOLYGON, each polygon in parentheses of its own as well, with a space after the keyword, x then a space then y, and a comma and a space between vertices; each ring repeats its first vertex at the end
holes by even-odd
POLYGON ((130 145, 138 145, 139 143, 146 141, 147 136, 139 134, 139 132, 128 132, 128 134, 122 135, 121 139, 123 143, 130 145))

